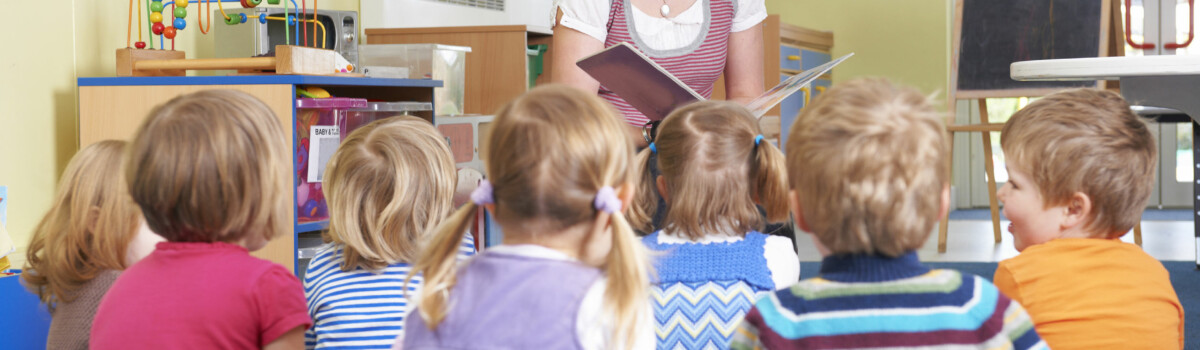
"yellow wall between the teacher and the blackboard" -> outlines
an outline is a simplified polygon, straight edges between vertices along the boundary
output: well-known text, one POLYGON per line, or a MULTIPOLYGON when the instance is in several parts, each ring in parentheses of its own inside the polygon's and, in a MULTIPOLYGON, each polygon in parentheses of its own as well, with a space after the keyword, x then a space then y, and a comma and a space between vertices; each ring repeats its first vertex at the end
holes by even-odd
POLYGON ((950 60, 949 0, 767 0, 784 23, 833 31, 833 55, 854 53, 834 68, 834 83, 887 77, 940 92, 946 101, 950 60))

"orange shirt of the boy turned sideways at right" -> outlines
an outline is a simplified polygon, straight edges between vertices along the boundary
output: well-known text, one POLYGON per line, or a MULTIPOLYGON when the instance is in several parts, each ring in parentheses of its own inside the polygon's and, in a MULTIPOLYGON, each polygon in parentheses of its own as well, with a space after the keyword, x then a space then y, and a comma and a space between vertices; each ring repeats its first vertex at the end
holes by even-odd
POLYGON ((1118 240, 1060 239, 1000 262, 994 282, 1051 349, 1183 349, 1163 264, 1118 240))

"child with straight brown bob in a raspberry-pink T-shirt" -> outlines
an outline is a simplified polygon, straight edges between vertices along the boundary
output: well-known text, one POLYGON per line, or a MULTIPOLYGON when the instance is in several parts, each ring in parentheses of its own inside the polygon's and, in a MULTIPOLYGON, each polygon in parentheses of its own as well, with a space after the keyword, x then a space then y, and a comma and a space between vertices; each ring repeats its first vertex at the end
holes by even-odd
POLYGON ((150 111, 126 179, 167 242, 109 289, 91 349, 304 346, 300 280, 250 255, 292 234, 286 140, 275 114, 245 92, 187 93, 150 111))

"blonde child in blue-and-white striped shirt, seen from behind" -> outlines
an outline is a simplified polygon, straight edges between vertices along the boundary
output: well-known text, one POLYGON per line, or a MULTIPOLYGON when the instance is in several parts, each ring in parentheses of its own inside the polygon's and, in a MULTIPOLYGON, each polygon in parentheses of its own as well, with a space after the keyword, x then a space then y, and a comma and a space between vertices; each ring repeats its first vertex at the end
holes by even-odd
MULTIPOLYGON (((422 119, 397 116, 355 129, 329 159, 325 195, 330 242, 305 273, 313 326, 306 348, 389 349, 403 333, 404 288, 418 242, 451 211, 454 158, 422 119)), ((458 257, 474 254, 470 237, 458 257)))

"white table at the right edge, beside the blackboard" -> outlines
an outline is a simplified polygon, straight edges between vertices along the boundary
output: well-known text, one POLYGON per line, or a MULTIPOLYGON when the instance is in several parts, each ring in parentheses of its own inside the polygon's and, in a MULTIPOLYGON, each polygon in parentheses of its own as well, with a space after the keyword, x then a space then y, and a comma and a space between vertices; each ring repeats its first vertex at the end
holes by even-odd
MULTIPOLYGON (((1200 121, 1200 56, 1123 56, 1015 62, 1014 80, 1121 80, 1121 95, 1130 104, 1180 110, 1200 121)), ((1192 152, 1200 179, 1200 139, 1192 128, 1192 152)), ((1200 180, 1193 186, 1196 268, 1200 268, 1200 180)))

